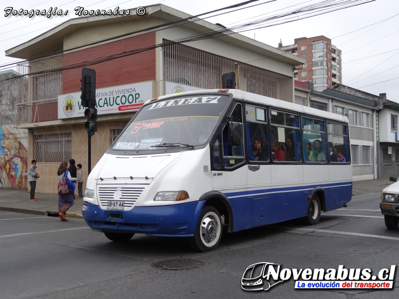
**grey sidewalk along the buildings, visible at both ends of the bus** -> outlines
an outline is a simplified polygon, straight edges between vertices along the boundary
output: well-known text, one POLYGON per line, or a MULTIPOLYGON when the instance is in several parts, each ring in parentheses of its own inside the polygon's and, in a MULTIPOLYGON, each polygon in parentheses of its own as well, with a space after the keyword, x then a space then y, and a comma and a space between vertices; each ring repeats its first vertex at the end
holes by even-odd
MULTIPOLYGON (((352 195, 380 193, 391 183, 389 178, 355 181, 353 182, 352 195)), ((37 200, 30 201, 29 192, 26 190, 0 188, 0 211, 58 216, 57 194, 36 192, 35 197, 37 200)), ((68 210, 66 216, 82 218, 82 198, 75 199, 75 204, 68 210)))

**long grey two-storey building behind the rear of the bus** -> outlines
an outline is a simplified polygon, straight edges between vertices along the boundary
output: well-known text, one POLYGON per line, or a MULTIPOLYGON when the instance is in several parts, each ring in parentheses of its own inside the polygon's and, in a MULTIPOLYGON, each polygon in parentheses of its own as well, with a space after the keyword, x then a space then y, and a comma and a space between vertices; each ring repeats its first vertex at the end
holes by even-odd
MULTIPOLYGON (((305 95, 304 84, 295 82, 295 99, 305 95)), ((383 108, 382 97, 342 84, 318 92, 307 84, 310 89, 305 106, 348 117, 353 180, 378 178, 378 114, 383 108)))

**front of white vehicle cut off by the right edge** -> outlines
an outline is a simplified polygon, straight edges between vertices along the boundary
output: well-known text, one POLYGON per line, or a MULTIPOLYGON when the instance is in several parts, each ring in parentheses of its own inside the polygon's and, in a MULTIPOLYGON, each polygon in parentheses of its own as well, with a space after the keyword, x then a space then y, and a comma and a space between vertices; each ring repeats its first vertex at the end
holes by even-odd
POLYGON ((387 228, 395 229, 399 224, 399 181, 395 176, 390 176, 390 181, 395 183, 383 190, 380 209, 387 228))

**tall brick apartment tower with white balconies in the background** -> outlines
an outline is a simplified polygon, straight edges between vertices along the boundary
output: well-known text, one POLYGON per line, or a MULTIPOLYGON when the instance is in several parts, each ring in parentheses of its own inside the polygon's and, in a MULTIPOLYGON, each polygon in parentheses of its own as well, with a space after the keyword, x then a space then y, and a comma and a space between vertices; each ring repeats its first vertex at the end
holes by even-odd
POLYGON ((306 63, 297 66, 294 78, 309 82, 315 91, 323 91, 336 83, 342 83, 342 52, 323 35, 295 38, 294 44, 279 48, 297 55, 306 63))

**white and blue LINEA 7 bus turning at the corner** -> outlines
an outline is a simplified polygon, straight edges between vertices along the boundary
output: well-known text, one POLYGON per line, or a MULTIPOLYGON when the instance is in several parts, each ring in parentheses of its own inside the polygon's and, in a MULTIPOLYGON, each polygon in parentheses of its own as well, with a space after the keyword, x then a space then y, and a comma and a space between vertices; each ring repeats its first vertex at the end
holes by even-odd
POLYGON ((303 218, 352 196, 348 119, 240 90, 147 101, 91 171, 83 218, 112 241, 188 237, 303 218))

